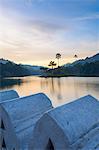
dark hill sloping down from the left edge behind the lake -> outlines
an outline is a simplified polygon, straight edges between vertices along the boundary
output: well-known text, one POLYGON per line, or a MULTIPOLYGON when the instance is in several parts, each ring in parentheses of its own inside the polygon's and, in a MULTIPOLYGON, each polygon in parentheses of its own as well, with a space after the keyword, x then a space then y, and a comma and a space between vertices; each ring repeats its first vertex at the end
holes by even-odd
POLYGON ((16 64, 12 61, 0 59, 0 77, 19 77, 41 75, 42 66, 16 64))

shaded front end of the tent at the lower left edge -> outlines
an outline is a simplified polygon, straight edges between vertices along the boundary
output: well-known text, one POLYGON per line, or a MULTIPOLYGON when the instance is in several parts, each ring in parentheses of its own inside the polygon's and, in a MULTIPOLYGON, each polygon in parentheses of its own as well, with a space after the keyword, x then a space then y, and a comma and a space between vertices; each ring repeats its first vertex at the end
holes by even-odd
POLYGON ((5 109, 0 105, 0 150, 2 150, 3 139, 7 150, 20 149, 20 143, 14 132, 10 116, 5 109), (3 123, 3 128, 2 128, 3 123), (12 144, 13 143, 13 144, 12 144))

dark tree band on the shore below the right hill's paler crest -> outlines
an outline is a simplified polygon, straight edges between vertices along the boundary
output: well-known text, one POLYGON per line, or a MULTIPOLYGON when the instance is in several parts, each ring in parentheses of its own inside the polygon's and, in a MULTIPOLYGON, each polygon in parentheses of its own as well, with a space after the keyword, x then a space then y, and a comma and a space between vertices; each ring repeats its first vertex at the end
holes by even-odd
POLYGON ((46 71, 47 76, 99 76, 99 61, 59 67, 46 71))

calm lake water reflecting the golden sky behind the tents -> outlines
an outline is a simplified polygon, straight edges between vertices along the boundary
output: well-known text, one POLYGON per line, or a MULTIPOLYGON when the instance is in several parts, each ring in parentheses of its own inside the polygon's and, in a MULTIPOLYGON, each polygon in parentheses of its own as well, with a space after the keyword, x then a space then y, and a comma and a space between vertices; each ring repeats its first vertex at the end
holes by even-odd
POLYGON ((99 99, 99 77, 22 77, 1 81, 0 90, 14 89, 20 96, 44 92, 54 106, 91 94, 99 99))

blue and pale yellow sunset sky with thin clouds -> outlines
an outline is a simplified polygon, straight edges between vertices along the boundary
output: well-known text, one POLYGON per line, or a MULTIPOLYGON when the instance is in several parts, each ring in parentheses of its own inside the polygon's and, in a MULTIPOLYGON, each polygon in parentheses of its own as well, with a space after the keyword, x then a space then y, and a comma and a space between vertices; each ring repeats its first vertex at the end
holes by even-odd
POLYGON ((0 0, 1 58, 47 66, 98 52, 98 0, 0 0))

